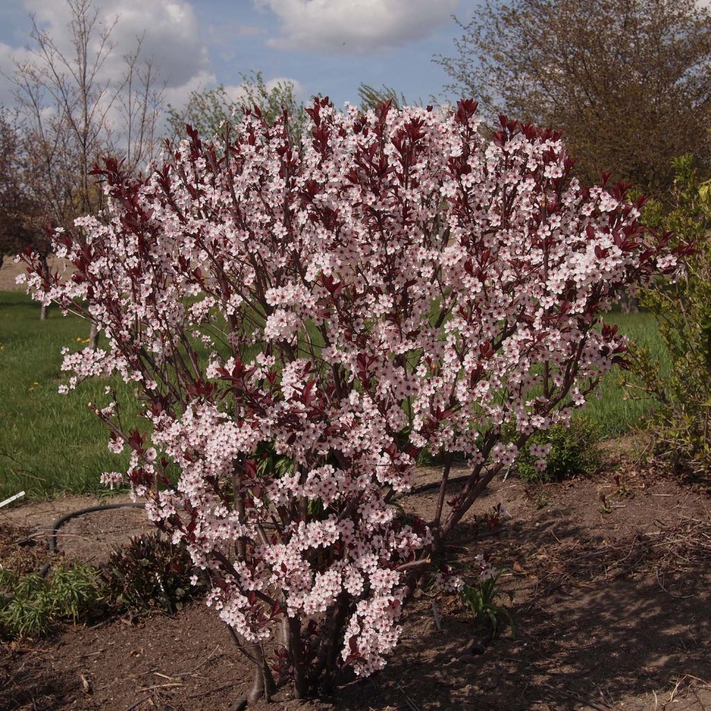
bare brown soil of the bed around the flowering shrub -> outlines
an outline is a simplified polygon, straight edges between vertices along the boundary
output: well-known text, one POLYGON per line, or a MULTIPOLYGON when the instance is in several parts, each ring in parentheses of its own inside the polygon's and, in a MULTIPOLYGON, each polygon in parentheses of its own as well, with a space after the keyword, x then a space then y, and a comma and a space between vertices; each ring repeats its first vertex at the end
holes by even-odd
MULTIPOLYGON (((432 473, 423 470, 422 482, 432 473)), ((38 532, 71 498, 0 516, 38 532)), ((402 500, 427 517, 435 493, 402 500)), ((145 525, 140 510, 73 520, 62 555, 98 562, 145 525)), ((41 540, 41 534, 38 536, 41 540)), ((516 636, 504 631, 481 654, 481 633, 456 599, 407 609, 400 646, 383 672, 304 711, 578 711, 711 709, 711 498, 707 492, 622 466, 595 479, 530 487, 500 481, 461 525, 459 565, 488 552, 510 567, 516 636), (481 515, 502 503, 510 518, 488 532, 481 515), (479 540, 477 540, 479 533, 479 540)), ((39 560, 39 559, 38 559, 39 560)), ((172 617, 121 619, 62 629, 6 648, 0 710, 227 710, 250 679, 225 626, 195 602, 172 617)), ((267 708, 266 706, 264 707, 267 708)))

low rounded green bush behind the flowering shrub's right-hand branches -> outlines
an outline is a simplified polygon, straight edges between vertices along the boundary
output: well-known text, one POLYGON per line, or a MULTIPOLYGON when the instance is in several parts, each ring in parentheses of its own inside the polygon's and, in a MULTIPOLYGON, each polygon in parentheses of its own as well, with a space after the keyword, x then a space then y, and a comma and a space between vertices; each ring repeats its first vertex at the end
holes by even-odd
MULTIPOLYGON (((513 432, 511 433, 513 440, 513 432)), ((584 417, 576 417, 570 427, 555 425, 537 432, 525 444, 516 460, 518 476, 524 481, 560 481, 574 474, 594 474, 601 460, 597 449, 600 430, 597 424, 584 417), (545 471, 536 469, 532 447, 550 446, 545 471)))

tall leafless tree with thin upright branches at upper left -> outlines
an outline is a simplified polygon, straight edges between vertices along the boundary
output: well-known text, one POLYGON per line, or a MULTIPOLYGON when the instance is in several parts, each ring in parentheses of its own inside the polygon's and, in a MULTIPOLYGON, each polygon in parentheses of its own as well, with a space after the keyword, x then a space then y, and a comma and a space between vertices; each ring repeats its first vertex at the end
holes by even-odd
MULTIPOLYGON (((141 53, 142 38, 119 56, 112 41, 118 17, 102 23, 92 0, 66 6, 68 46, 31 15, 31 58, 16 63, 11 78, 29 146, 26 184, 48 222, 70 227, 103 206, 89 174, 100 157, 123 156, 127 171, 149 161, 162 91, 154 63, 141 53)), ((92 331, 92 343, 96 338, 92 331)))

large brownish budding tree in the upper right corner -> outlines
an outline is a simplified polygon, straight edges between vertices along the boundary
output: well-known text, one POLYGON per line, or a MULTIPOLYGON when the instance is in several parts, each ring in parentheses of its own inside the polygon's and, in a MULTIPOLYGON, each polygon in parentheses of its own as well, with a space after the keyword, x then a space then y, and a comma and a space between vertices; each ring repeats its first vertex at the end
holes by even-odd
POLYGON ((662 197, 672 159, 710 160, 711 16, 695 0, 487 0, 436 58, 488 114, 562 129, 578 173, 662 197))

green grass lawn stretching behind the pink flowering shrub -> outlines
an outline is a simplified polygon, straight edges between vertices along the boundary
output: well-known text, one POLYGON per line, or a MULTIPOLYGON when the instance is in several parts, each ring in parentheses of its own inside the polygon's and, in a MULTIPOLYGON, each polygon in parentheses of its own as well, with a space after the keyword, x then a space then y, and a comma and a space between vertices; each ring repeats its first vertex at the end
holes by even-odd
MULTIPOLYGON (((35 499, 104 491, 102 471, 127 466, 126 454, 109 453, 105 427, 86 407, 106 402, 106 383, 94 380, 68 395, 57 393, 65 378, 61 348, 78 348, 77 339, 88 335, 87 324, 57 309, 43 323, 38 315, 38 304, 26 294, 0 292, 0 499, 21 490, 35 499)), ((610 320, 653 352, 663 351, 651 314, 611 314, 610 320)), ((619 373, 608 375, 602 399, 592 399, 586 408, 604 437, 623 434, 649 409, 624 400, 618 381, 619 373)), ((138 422, 131 387, 119 380, 114 385, 122 412, 138 422)))

